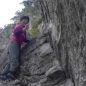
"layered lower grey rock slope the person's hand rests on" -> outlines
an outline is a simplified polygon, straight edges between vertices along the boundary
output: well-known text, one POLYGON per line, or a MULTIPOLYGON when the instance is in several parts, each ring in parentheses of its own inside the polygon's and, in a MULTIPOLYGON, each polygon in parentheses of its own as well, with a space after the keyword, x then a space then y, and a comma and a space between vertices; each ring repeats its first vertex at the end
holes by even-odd
POLYGON ((18 79, 0 81, 0 86, 73 86, 72 80, 67 77, 56 58, 49 35, 41 36, 33 42, 34 40, 22 48, 22 65, 18 79))

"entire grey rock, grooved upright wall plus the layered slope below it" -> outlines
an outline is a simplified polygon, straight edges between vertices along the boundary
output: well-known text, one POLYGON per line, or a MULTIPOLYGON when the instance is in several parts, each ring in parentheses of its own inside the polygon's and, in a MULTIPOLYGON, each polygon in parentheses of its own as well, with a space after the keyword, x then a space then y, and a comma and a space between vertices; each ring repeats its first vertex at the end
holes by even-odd
POLYGON ((19 81, 1 86, 86 86, 86 0, 38 0, 44 22, 22 50, 19 81))

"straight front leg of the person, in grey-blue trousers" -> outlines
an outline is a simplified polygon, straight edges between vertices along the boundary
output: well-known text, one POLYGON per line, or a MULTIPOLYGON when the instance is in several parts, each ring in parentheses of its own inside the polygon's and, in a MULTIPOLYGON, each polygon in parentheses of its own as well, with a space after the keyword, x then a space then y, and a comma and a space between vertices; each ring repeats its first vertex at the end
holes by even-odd
POLYGON ((12 41, 9 47, 9 71, 15 73, 20 65, 20 46, 12 41))

